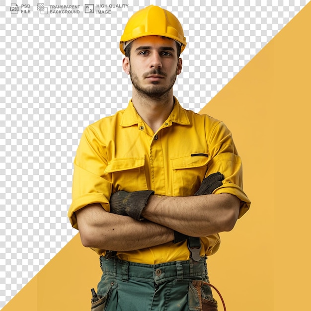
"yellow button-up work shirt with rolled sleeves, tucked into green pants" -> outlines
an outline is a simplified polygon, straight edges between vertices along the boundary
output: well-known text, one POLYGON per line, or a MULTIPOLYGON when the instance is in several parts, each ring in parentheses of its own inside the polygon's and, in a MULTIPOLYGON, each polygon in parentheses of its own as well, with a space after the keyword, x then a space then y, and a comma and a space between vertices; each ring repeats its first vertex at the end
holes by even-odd
MULTIPOLYGON (((154 190, 166 196, 192 196, 202 180, 224 174, 213 193, 231 193, 240 199, 241 217, 250 201, 242 190, 242 164, 226 125, 208 115, 174 107, 154 133, 136 112, 132 101, 115 115, 89 125, 81 137, 74 161, 73 201, 68 217, 78 229, 75 212, 100 203, 110 212, 109 199, 119 190, 154 190)), ((218 234, 201 237, 201 256, 215 253, 218 234)), ((99 255, 106 250, 94 249, 99 255)), ((188 260, 187 241, 136 251, 118 252, 122 260, 158 264, 188 260)))

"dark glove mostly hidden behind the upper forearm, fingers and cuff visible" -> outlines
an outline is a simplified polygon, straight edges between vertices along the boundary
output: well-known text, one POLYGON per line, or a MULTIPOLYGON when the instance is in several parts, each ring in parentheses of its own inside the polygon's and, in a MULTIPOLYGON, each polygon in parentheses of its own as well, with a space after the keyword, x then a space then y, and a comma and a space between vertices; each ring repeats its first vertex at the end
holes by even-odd
MULTIPOLYGON (((194 195, 212 194, 216 188, 223 185, 224 179, 224 175, 220 172, 208 175, 206 178, 203 179, 199 190, 194 195)), ((188 238, 187 235, 179 233, 177 231, 174 232, 174 235, 174 243, 184 241, 188 238)))

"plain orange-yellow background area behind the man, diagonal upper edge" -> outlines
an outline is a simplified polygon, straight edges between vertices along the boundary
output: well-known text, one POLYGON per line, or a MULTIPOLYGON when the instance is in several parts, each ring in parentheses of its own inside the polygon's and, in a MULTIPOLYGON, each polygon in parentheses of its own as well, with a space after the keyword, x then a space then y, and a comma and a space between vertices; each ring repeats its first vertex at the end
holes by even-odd
MULTIPOLYGON (((228 311, 309 308, 310 76, 309 2, 201 111, 232 130, 252 201, 208 259, 228 311)), ((90 310, 100 272, 77 235, 2 310, 90 310)))

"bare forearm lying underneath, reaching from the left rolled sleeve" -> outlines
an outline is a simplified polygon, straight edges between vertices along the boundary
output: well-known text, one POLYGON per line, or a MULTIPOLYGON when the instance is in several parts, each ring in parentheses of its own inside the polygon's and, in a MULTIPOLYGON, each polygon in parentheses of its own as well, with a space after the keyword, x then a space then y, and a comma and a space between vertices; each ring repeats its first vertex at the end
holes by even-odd
POLYGON ((169 242, 173 230, 148 220, 106 212, 100 204, 76 212, 82 244, 106 250, 131 251, 169 242))

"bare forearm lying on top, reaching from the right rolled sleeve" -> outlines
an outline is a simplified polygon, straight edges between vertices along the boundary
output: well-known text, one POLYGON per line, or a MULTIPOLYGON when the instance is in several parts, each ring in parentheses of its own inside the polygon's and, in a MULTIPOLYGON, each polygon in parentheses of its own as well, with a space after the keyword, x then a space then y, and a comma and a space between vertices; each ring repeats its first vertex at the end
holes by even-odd
POLYGON ((151 196, 142 216, 190 236, 230 231, 237 220, 239 199, 231 194, 190 197, 151 196))

